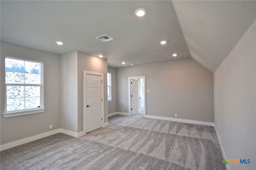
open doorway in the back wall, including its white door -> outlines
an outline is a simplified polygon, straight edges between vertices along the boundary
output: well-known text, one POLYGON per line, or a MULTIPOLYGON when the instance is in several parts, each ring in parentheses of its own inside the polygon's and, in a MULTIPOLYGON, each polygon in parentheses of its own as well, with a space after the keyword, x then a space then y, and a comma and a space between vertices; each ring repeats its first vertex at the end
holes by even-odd
POLYGON ((146 115, 146 77, 128 77, 129 80, 129 114, 146 115))

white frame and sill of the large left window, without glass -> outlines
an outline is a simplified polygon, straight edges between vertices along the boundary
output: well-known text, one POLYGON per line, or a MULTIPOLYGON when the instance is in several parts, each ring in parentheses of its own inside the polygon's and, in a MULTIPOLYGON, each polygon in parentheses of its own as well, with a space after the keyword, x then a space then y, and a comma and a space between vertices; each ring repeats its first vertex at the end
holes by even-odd
MULTIPOLYGON (((4 117, 15 117, 15 116, 22 116, 22 115, 29 115, 29 114, 34 114, 34 113, 42 113, 44 112, 45 108, 44 108, 44 75, 43 75, 43 62, 42 61, 35 61, 35 60, 30 60, 30 59, 22 59, 22 58, 17 58, 17 57, 9 57, 6 56, 5 58, 9 58, 9 59, 17 59, 17 60, 21 60, 21 61, 29 61, 29 62, 34 62, 34 63, 40 63, 41 67, 40 67, 40 81, 41 84, 22 84, 22 83, 5 83, 5 89, 4 89, 4 94, 5 94, 5 109, 4 109, 4 117), (7 86, 38 86, 40 87, 40 107, 38 108, 33 108, 33 109, 23 109, 23 110, 18 110, 18 111, 7 111, 7 86)), ((4 63, 5 65, 5 63, 4 63)), ((5 67, 4 67, 5 68, 5 67)), ((5 74, 5 69, 4 69, 4 74, 5 74)))

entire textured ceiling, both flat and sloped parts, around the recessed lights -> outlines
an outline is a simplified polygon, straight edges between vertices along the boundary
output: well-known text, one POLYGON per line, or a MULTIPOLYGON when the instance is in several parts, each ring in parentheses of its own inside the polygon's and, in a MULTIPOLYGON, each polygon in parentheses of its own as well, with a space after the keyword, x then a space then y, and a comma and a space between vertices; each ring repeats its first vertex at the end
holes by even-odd
POLYGON ((256 1, 0 3, 2 42, 56 54, 102 54, 112 67, 192 57, 214 72, 256 19, 256 1), (144 17, 134 14, 138 8, 147 10, 144 17), (96 39, 104 34, 114 40, 96 39))

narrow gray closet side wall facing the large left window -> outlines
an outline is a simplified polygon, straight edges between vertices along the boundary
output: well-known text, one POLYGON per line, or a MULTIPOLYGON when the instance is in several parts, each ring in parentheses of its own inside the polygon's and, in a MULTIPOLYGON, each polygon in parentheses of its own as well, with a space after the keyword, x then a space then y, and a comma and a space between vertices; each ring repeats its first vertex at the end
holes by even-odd
POLYGON ((77 52, 60 57, 60 127, 78 132, 77 52))

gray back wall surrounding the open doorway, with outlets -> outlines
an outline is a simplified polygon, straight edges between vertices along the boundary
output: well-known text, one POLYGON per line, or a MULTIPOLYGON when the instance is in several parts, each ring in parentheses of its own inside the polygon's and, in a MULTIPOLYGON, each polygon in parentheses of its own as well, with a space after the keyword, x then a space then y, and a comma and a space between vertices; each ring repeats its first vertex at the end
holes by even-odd
POLYGON ((118 68, 118 112, 129 112, 128 77, 136 76, 146 76, 147 115, 214 122, 213 73, 193 59, 118 68))

